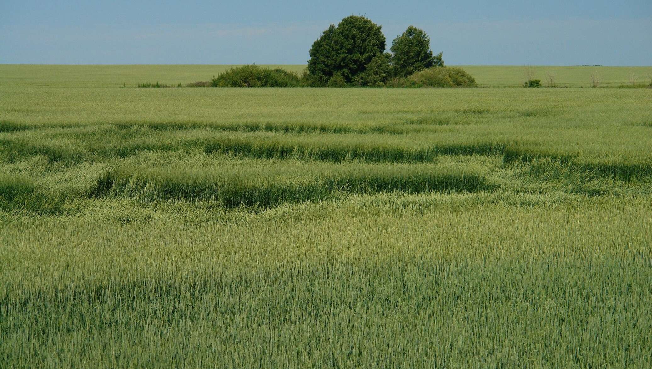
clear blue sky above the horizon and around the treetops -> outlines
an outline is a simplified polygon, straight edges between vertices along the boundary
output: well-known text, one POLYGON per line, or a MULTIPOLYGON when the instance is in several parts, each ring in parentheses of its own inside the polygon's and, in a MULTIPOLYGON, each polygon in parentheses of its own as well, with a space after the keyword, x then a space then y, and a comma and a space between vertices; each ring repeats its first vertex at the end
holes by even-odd
POLYGON ((449 65, 652 65, 651 0, 0 0, 0 63, 304 64, 351 14, 388 48, 424 29, 449 65))

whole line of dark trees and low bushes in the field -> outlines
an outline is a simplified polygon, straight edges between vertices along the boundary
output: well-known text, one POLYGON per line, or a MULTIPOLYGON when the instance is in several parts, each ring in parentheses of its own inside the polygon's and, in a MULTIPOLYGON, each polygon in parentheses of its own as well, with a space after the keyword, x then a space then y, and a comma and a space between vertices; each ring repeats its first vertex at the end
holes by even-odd
MULTIPOLYGON (((381 26, 364 16, 348 16, 331 24, 310 48, 303 74, 282 68, 244 65, 210 81, 187 87, 473 87, 473 77, 444 65, 434 54, 430 37, 413 25, 394 38, 389 49, 381 26)), ((158 82, 138 87, 170 87, 158 82)))

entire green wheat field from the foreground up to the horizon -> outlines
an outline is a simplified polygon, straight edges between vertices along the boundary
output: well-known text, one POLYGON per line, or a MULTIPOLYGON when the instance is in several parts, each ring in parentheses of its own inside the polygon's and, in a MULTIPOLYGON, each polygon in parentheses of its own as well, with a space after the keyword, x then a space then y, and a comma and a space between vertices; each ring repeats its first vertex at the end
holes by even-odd
POLYGON ((1 368, 652 366, 652 89, 219 68, 0 65, 1 368))

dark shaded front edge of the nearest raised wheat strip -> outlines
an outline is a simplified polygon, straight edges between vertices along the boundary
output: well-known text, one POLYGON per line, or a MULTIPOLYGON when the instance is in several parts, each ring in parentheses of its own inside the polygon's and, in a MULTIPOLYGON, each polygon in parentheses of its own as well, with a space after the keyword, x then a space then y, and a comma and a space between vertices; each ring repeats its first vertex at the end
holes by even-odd
POLYGON ((100 176, 89 198, 131 196, 145 201, 217 201, 227 208, 273 207, 282 203, 319 201, 346 194, 379 192, 478 192, 494 188, 477 174, 414 173, 413 175, 339 175, 308 180, 256 179, 237 176, 193 180, 181 173, 138 173, 115 170, 100 176))

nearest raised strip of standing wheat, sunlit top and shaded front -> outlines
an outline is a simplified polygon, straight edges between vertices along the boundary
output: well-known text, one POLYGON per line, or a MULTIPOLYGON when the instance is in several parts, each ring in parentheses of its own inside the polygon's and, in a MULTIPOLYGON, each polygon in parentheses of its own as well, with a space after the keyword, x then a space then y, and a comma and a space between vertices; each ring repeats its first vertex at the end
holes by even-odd
POLYGON ((327 199, 334 194, 376 192, 475 192, 490 188, 469 170, 432 164, 283 163, 220 168, 118 168, 102 175, 88 196, 218 201, 226 207, 270 207, 327 199))

